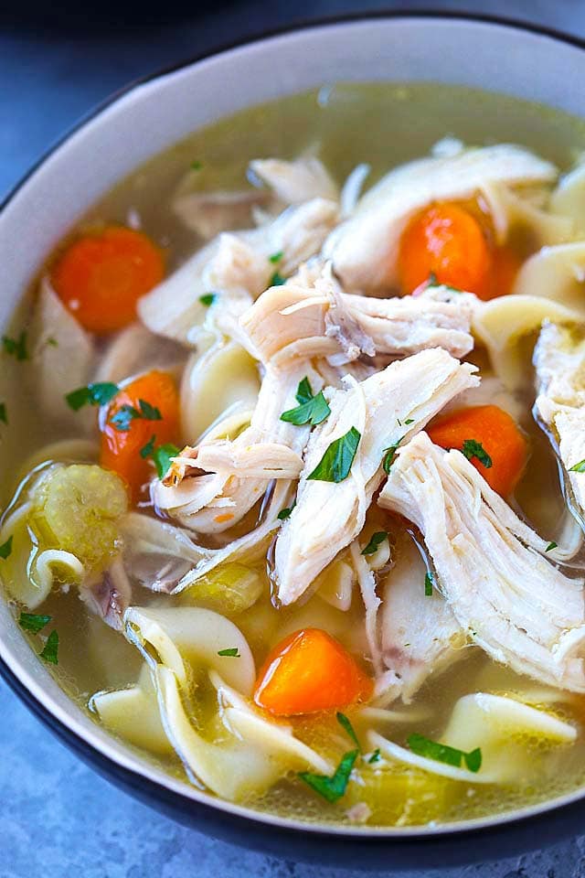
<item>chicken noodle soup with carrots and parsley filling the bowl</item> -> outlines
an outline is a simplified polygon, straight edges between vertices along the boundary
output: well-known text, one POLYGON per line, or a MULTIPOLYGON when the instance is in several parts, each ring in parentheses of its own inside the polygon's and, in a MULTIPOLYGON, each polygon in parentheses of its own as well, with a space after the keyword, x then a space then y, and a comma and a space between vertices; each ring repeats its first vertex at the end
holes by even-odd
POLYGON ((96 723, 304 820, 585 783, 584 147, 340 85, 71 230, 2 338, 0 578, 96 723))

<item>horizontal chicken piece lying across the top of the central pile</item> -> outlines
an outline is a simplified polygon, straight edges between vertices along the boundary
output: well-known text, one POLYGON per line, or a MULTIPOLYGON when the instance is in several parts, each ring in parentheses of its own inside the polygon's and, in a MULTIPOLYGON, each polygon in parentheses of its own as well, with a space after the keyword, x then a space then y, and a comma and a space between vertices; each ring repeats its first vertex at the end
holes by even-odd
POLYGON ((331 264, 311 287, 273 286, 239 318, 246 348, 263 362, 327 357, 350 362, 366 354, 408 357, 445 348, 463 357, 473 348, 470 323, 477 299, 448 287, 378 299, 342 293, 331 264))

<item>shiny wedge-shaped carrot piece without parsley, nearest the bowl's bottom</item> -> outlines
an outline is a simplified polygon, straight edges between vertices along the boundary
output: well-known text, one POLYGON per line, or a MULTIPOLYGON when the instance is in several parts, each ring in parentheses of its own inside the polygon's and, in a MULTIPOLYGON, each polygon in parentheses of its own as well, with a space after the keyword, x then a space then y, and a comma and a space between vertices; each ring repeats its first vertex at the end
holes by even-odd
POLYGON ((339 710, 371 692, 372 680, 335 637, 303 628, 271 650, 254 701, 275 716, 295 716, 339 710))

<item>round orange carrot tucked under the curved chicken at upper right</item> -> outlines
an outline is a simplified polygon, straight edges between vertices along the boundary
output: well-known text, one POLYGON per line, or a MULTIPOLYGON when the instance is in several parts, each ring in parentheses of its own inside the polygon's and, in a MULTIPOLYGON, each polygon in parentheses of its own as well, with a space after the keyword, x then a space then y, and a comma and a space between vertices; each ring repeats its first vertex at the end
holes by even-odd
POLYGON ((482 226, 453 202, 422 210, 402 233, 399 278, 404 294, 413 293, 434 275, 439 284, 489 297, 490 267, 482 226))

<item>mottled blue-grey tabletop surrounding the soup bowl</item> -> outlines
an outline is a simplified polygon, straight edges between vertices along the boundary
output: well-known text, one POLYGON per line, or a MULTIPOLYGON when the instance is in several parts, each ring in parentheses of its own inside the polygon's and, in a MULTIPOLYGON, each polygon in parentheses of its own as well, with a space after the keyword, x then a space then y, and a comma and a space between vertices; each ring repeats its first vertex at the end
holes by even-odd
MULTIPOLYGON (((51 0, 48 0, 50 5, 51 0)), ((96 0, 99 5, 100 0, 96 0)), ((165 6, 165 0, 160 0, 165 6)), ((279 25, 337 12, 392 7, 343 0, 233 2, 137 29, 64 31, 7 10, 0 0, 0 198, 51 143, 112 91, 165 65, 279 25), (11 20, 8 21, 8 18, 11 20)), ((19 0, 14 0, 16 8, 19 0)), ((123 6, 122 2, 120 3, 123 6)), ((80 8, 89 5, 80 0, 80 8)), ((400 8, 420 8, 402 2, 400 8)), ((424 8, 475 9, 535 21, 585 37, 585 3, 432 0, 424 8)), ((144 16, 142 16, 144 19, 144 16)), ((529 72, 527 71, 529 75, 529 72)), ((357 873, 240 851, 183 829, 94 775, 42 728, 0 681, 0 878, 341 878, 357 873)), ((585 827, 584 827, 585 830, 585 827)), ((422 878, 431 873, 400 873, 422 878)), ((437 873, 432 873, 437 874, 437 873)), ((585 837, 518 860, 441 870, 444 878, 581 878, 585 837)))

